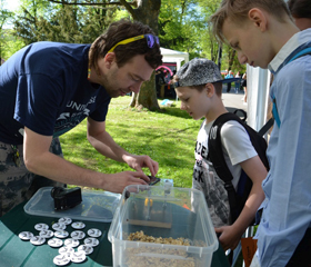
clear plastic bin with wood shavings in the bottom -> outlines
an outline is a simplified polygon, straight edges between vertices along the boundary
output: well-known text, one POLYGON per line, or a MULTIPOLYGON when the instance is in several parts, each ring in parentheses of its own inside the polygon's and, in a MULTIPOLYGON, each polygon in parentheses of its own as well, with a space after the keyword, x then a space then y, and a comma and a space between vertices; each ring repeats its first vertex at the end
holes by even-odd
POLYGON ((209 267, 218 249, 203 194, 170 186, 128 186, 108 239, 118 267, 209 267), (188 245, 128 240, 140 231, 154 238, 180 238, 188 245))

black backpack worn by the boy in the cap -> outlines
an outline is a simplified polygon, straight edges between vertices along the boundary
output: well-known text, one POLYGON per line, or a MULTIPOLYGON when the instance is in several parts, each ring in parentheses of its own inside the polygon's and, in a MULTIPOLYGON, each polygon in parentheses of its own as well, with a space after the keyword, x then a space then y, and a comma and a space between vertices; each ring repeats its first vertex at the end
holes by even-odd
POLYGON ((231 224, 233 224, 235 219, 239 217, 240 212, 242 211, 244 204, 249 197, 249 194, 252 188, 252 180, 242 170, 237 191, 231 182, 233 177, 224 160, 224 156, 222 152, 221 137, 220 137, 221 127, 229 120, 235 120, 245 128, 258 156, 260 157, 261 161, 263 162, 267 170, 269 171, 269 162, 265 155, 265 150, 268 146, 265 139, 263 138, 263 135, 273 125, 273 119, 270 119, 262 127, 262 129, 259 132, 257 132, 254 129, 248 126, 242 119, 240 119, 235 113, 227 112, 219 116, 210 129, 209 145, 208 145, 209 159, 212 162, 219 178, 224 181, 224 188, 228 192, 228 199, 230 206, 231 224))

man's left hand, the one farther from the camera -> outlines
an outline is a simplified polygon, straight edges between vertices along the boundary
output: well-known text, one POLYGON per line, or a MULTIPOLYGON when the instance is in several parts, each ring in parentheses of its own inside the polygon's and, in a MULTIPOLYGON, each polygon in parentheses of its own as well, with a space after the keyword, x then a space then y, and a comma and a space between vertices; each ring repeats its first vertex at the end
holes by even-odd
POLYGON ((143 174, 142 168, 149 168, 152 176, 156 176, 159 170, 159 164, 152 160, 149 156, 126 155, 123 160, 134 170, 141 171, 141 178, 149 181, 149 177, 143 174))

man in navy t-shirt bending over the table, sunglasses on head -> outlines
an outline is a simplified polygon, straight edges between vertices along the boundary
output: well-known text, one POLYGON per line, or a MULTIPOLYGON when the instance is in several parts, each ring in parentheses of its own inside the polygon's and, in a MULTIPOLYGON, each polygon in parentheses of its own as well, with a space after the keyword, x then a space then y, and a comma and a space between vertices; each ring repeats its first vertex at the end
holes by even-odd
POLYGON ((56 182, 122 192, 149 181, 141 168, 154 176, 158 162, 119 147, 106 116, 111 98, 139 92, 161 63, 158 37, 129 20, 113 22, 92 44, 37 42, 9 58, 0 68, 0 216, 56 182), (58 137, 84 118, 90 144, 136 171, 101 174, 58 157, 58 137))

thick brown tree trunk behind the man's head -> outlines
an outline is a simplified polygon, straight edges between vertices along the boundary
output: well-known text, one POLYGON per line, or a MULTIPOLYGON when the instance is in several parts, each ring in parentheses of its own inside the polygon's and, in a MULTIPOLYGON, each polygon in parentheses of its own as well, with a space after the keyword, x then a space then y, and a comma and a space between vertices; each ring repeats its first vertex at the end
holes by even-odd
MULTIPOLYGON (((120 1, 131 13, 132 18, 148 24, 158 34, 158 18, 161 8, 161 0, 138 0, 138 8, 133 9, 124 0, 120 1)), ((160 110, 157 99, 156 76, 152 73, 149 81, 142 83, 139 93, 132 95, 131 107, 138 109, 160 110)))

